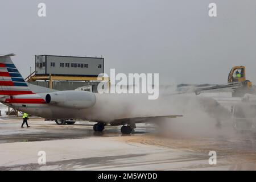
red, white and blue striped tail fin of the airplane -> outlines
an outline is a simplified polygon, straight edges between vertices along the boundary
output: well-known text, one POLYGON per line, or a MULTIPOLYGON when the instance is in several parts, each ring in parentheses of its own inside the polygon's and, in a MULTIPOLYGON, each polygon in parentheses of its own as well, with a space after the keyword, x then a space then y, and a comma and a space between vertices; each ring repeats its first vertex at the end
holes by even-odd
POLYGON ((11 56, 15 55, 13 53, 0 55, 0 96, 33 94, 15 67, 11 56))

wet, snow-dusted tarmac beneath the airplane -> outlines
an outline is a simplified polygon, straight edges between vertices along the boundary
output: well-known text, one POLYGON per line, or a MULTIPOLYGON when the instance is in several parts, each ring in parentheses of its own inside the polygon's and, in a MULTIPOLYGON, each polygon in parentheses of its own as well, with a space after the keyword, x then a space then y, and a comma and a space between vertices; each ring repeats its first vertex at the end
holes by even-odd
POLYGON ((93 131, 93 123, 56 125, 31 118, 0 120, 0 170, 255 170, 256 138, 164 137, 140 124, 131 135, 120 127, 93 131), (46 164, 39 164, 39 151, 46 164), (216 164, 209 152, 216 151, 216 164))

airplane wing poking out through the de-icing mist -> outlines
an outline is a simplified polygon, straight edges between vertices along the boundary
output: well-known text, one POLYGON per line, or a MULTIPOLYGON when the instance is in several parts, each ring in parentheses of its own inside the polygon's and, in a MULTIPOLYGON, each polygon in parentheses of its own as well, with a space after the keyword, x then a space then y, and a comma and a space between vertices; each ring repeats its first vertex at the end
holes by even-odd
POLYGON ((155 119, 159 118, 176 118, 183 117, 183 115, 158 115, 158 116, 148 116, 148 117, 134 117, 134 118, 121 118, 115 119, 114 121, 109 122, 112 126, 125 125, 130 123, 147 123, 155 122, 155 119))

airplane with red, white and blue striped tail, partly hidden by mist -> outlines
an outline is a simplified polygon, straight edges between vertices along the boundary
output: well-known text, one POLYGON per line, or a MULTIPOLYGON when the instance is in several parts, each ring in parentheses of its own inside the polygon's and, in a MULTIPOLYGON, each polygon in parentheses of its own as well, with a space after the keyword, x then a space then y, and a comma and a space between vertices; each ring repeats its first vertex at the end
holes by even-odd
MULTIPOLYGON (((36 92, 36 85, 28 84, 20 75, 18 69, 11 60, 14 53, 0 55, 0 102, 16 110, 35 115, 37 117, 65 122, 66 120, 84 119, 97 122, 93 126, 94 131, 101 132, 105 126, 121 127, 122 134, 131 134, 136 128, 136 123, 155 122, 158 118, 176 118, 182 115, 154 115, 127 117, 127 113, 111 114, 106 105, 107 113, 100 114, 99 105, 104 105, 104 95, 82 90, 58 91, 46 89, 47 92, 36 92), (28 86, 31 85, 31 86, 28 86), (100 96, 101 95, 101 96, 100 96), (109 113, 108 113, 109 111, 109 113), (106 119, 105 119, 106 118, 106 119)), ((39 86, 40 87, 40 86, 39 86)), ((73 124, 75 122, 70 122, 73 124)))

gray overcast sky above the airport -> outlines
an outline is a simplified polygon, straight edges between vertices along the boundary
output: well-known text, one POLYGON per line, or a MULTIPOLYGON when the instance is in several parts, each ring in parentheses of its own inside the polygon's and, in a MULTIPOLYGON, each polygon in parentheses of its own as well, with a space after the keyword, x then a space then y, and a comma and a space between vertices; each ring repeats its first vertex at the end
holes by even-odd
POLYGON ((256 82, 255 0, 1 1, 0 20, 0 53, 15 53, 24 77, 36 54, 102 55, 106 73, 225 83, 233 65, 245 65, 256 82), (39 2, 46 18, 38 17, 39 2))

